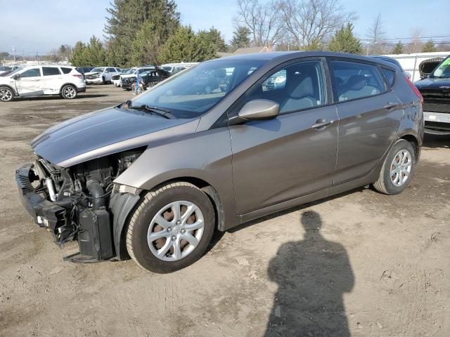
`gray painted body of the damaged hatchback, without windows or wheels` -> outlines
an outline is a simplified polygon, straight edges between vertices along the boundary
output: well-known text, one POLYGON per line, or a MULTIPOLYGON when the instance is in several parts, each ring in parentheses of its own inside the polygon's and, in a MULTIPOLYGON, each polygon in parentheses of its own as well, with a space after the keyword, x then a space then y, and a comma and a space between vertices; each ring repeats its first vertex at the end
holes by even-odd
MULTIPOLYGON (((390 62, 327 52, 260 53, 225 59, 235 58, 267 62, 201 117, 162 119, 111 107, 49 129, 33 141, 34 151, 53 164, 69 167, 145 145, 143 154, 114 183, 138 191, 173 180, 209 185, 219 230, 373 183, 399 138, 411 141, 417 157, 420 154, 420 100, 398 71, 393 88, 385 93, 345 102, 333 98, 330 58, 392 70, 390 62), (326 105, 275 119, 228 125, 228 119, 238 114, 235 103, 255 83, 290 62, 308 59, 323 60, 326 105), (326 128, 311 128, 319 119, 333 122, 326 128)), ((117 240, 126 218, 127 214, 122 214, 122 223, 115 224, 117 240)), ((117 247, 118 242, 115 244, 117 247)))

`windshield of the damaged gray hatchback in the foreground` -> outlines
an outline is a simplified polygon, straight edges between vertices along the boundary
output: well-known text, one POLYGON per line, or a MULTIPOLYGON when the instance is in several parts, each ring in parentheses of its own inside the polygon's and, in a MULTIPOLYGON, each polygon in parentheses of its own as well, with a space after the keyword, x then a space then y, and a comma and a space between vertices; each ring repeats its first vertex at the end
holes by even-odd
POLYGON ((169 110, 176 118, 195 118, 210 110, 265 61, 214 60, 169 77, 160 86, 139 95, 134 106, 169 110))

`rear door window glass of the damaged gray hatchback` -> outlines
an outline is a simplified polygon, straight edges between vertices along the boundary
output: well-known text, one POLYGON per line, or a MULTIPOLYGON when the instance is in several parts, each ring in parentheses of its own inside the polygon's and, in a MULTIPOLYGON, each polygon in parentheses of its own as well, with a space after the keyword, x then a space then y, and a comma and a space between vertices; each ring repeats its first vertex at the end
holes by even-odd
POLYGON ((335 82, 335 95, 339 102, 355 100, 386 91, 378 68, 365 63, 331 61, 331 76, 335 82))

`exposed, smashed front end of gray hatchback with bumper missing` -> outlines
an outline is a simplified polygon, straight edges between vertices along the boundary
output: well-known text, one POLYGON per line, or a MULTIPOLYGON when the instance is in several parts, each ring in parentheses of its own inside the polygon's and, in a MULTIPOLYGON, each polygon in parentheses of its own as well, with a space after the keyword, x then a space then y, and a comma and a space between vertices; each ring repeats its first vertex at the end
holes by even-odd
POLYGON ((127 257, 120 233, 139 189, 113 180, 131 166, 145 147, 63 168, 37 157, 15 172, 20 199, 34 222, 59 246, 77 240, 79 252, 65 260, 91 263, 127 257), (116 234, 117 233, 117 234, 116 234))

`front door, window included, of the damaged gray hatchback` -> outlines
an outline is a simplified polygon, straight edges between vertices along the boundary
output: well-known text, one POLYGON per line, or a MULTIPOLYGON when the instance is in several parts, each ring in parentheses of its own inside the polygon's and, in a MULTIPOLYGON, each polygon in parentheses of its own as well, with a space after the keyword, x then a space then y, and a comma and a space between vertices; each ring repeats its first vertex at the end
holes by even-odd
POLYGON ((239 104, 280 105, 276 119, 229 126, 239 215, 333 185, 338 115, 326 105, 324 79, 321 60, 293 63, 269 74, 239 104))

